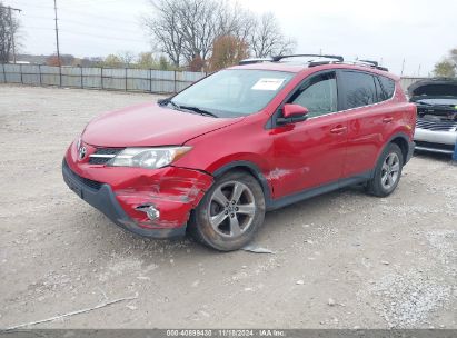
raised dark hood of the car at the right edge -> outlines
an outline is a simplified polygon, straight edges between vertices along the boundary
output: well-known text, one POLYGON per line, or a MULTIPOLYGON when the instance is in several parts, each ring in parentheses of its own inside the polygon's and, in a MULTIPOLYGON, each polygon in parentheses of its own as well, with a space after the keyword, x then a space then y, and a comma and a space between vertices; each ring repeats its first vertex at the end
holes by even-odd
POLYGON ((408 87, 411 101, 431 98, 457 99, 456 79, 427 79, 408 87))

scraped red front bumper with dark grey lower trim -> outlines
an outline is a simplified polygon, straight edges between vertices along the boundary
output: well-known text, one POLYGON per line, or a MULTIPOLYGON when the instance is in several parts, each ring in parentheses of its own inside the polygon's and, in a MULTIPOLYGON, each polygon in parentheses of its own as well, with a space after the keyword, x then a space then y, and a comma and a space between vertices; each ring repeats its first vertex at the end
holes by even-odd
POLYGON ((82 176, 85 170, 63 159, 68 187, 116 225, 152 238, 183 236, 190 211, 212 185, 208 173, 176 167, 86 169, 90 175, 82 176), (153 219, 146 212, 149 207, 158 211, 153 219))

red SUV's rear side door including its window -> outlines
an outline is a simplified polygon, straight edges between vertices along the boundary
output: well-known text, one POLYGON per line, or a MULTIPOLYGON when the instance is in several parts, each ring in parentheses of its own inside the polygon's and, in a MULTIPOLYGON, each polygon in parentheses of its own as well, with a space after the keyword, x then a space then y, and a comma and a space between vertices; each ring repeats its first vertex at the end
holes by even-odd
POLYGON ((386 133, 395 119, 391 105, 387 103, 391 96, 388 97, 383 89, 377 74, 339 70, 338 76, 342 83, 341 105, 348 121, 342 178, 366 177, 376 166, 386 133))

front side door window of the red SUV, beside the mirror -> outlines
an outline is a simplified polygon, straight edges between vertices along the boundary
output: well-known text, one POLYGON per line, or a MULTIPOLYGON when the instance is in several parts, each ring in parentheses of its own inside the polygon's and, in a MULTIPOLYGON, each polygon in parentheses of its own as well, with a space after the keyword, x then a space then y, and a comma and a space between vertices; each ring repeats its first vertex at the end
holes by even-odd
POLYGON ((289 103, 306 107, 310 118, 337 111, 337 102, 335 72, 320 74, 307 80, 289 100, 289 103))

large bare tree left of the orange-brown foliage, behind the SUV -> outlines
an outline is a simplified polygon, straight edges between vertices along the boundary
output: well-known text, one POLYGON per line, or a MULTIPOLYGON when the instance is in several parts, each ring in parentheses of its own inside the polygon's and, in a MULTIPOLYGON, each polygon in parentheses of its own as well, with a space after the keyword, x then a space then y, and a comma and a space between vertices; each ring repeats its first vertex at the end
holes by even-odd
POLYGON ((155 13, 146 17, 143 23, 158 49, 175 66, 182 61, 189 64, 197 59, 206 62, 218 37, 231 33, 247 40, 248 29, 254 27, 246 11, 222 0, 150 1, 155 13))

